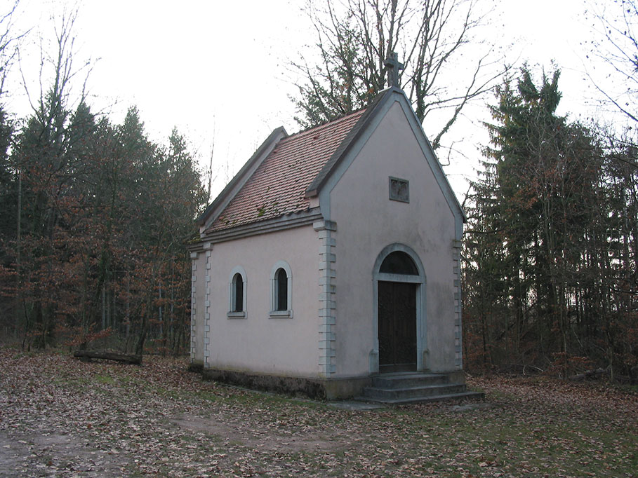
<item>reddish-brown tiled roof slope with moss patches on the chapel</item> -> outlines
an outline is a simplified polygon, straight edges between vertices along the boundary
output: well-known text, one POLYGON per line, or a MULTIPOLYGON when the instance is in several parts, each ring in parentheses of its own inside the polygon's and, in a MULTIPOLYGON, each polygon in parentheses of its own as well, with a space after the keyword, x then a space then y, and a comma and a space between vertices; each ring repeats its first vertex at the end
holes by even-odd
POLYGON ((365 111, 280 139, 206 232, 308 210, 308 186, 365 111))

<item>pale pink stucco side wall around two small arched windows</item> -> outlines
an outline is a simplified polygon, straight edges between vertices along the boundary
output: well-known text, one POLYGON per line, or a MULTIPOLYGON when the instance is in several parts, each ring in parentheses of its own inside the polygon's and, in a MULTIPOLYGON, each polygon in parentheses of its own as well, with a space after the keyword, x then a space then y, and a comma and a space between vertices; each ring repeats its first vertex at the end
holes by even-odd
POLYGON ((317 376, 319 370, 319 242, 312 226, 213 245, 208 365, 265 374, 317 376), (270 318, 271 273, 291 268, 293 318, 270 318), (246 318, 229 319, 230 273, 246 271, 246 318))

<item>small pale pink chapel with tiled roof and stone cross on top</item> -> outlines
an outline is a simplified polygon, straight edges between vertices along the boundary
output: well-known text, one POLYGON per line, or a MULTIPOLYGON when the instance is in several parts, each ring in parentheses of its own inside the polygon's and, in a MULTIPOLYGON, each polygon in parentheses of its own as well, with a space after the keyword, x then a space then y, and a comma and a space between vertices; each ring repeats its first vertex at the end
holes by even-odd
POLYGON ((465 216, 388 61, 368 107, 277 128, 199 218, 192 368, 328 400, 469 394, 465 216))

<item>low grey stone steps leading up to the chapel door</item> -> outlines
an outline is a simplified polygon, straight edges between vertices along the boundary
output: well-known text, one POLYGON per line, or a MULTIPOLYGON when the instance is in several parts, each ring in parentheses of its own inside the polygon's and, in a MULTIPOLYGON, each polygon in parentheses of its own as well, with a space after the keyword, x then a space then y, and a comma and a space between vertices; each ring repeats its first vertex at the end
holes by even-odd
POLYGON ((357 400, 383 404, 439 402, 441 400, 484 399, 483 392, 470 392, 465 383, 454 383, 450 374, 396 372, 373 377, 357 400))

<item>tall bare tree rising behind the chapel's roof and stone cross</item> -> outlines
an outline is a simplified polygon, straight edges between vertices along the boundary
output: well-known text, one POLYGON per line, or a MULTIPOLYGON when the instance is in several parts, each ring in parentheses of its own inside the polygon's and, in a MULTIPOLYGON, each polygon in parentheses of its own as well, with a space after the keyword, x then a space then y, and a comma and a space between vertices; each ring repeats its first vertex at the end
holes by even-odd
POLYGON ((441 137, 472 98, 490 90, 507 71, 500 58, 477 42, 474 30, 486 21, 480 0, 328 0, 325 8, 306 8, 317 34, 319 62, 302 56, 293 62, 300 125, 310 127, 356 111, 387 83, 386 60, 394 52, 404 62, 400 86, 420 121, 432 111, 448 110, 441 137), (480 13, 483 12, 483 13, 480 13), (473 43, 463 73, 451 74, 453 62, 473 43))

